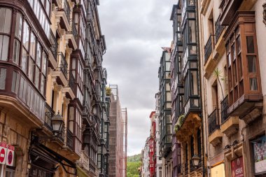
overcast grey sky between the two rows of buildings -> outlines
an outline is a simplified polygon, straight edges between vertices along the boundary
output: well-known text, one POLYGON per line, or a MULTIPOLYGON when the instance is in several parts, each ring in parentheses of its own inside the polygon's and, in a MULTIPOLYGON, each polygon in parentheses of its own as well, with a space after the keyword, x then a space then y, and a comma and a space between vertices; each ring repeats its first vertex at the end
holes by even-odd
POLYGON ((108 84, 118 85, 127 108, 127 155, 141 153, 149 135, 151 111, 158 92, 161 47, 172 41, 170 15, 174 0, 100 0, 104 67, 108 84))

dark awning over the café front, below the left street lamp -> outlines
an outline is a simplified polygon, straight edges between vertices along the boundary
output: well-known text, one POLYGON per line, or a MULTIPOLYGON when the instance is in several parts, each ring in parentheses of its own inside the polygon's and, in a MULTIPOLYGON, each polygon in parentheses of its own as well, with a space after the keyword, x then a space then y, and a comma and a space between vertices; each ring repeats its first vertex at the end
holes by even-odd
POLYGON ((44 146, 41 143, 31 144, 31 149, 34 149, 34 150, 40 149, 41 151, 43 151, 43 153, 46 153, 47 155, 49 155, 49 157, 51 157, 52 160, 55 160, 56 162, 61 164, 63 169, 64 169, 64 171, 66 171, 67 174, 72 174, 72 175, 75 175, 75 176, 77 175, 76 164, 71 162, 71 160, 66 159, 66 157, 63 157, 62 155, 59 155, 58 153, 56 153, 55 151, 51 150, 50 148, 47 148, 46 146, 44 146), (70 167, 72 169, 75 169, 75 173, 71 173, 70 171, 67 171, 66 167, 70 167))

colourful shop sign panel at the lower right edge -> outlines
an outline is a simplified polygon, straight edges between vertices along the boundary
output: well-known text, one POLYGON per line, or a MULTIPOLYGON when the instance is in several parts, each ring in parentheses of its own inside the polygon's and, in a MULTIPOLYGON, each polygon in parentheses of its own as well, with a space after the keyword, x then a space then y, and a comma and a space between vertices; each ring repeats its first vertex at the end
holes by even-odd
POLYGON ((261 136, 253 143, 255 174, 266 172, 266 136, 261 136))

